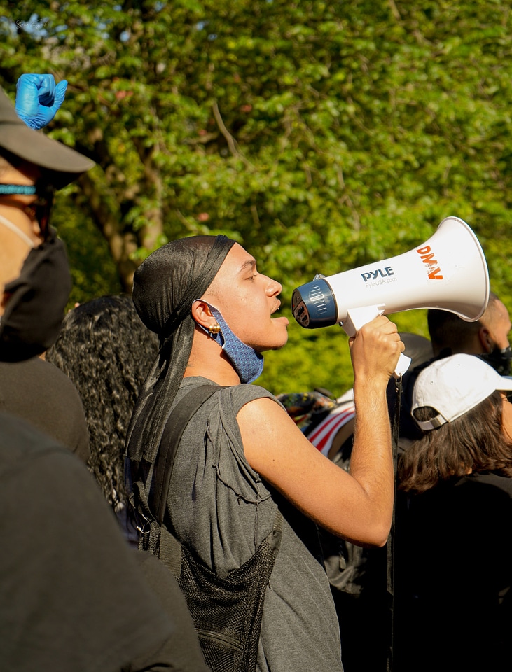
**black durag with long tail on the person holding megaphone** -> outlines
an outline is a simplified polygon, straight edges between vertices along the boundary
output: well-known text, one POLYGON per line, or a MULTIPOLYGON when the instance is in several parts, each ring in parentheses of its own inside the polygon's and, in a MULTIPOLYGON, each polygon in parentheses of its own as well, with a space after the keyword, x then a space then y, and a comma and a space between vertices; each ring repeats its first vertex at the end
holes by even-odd
POLYGON ((181 238, 160 247, 134 275, 133 302, 160 351, 135 404, 127 457, 152 463, 191 354, 192 303, 202 297, 235 244, 226 236, 181 238))

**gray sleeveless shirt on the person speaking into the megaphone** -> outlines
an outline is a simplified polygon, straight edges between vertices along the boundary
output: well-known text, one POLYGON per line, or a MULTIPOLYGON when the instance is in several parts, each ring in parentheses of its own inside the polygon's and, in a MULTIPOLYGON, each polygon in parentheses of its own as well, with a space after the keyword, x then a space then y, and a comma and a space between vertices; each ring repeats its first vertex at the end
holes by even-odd
MULTIPOLYGON (((174 405, 193 386, 208 382, 185 378, 174 405)), ((282 541, 265 594, 258 672, 341 672, 338 618, 317 528, 265 484, 244 456, 237 412, 262 397, 279 403, 265 389, 241 384, 221 388, 199 409, 174 461, 168 514, 179 541, 225 576, 254 555, 272 531, 279 506, 282 541)))

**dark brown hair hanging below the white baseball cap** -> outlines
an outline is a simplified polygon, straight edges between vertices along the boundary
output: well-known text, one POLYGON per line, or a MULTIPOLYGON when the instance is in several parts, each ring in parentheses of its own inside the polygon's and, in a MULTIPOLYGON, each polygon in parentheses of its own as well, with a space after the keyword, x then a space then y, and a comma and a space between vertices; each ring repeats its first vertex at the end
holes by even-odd
MULTIPOLYGON (((454 421, 425 432, 399 458, 399 489, 419 494, 470 471, 512 477, 512 440, 502 428, 502 412, 501 394, 493 392, 454 421)), ((429 406, 414 412, 420 421, 437 414, 429 406)))

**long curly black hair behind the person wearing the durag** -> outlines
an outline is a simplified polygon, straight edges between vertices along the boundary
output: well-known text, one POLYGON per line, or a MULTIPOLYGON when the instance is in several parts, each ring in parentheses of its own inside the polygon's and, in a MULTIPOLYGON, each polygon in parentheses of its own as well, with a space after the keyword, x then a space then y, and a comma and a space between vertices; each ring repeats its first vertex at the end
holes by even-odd
POLYGON ((46 360, 74 382, 90 434, 88 467, 114 510, 126 504, 125 440, 139 387, 158 353, 129 295, 104 296, 65 316, 46 360))

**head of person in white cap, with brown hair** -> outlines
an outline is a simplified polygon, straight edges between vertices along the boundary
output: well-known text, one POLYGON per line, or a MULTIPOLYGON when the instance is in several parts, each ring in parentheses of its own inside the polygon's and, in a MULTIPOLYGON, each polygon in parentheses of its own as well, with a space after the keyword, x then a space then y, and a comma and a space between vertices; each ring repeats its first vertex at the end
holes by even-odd
POLYGON ((477 471, 504 468, 506 475, 512 475, 512 452, 508 447, 512 405, 506 398, 510 391, 512 378, 500 376, 472 355, 452 355, 424 369, 414 386, 412 413, 426 434, 401 459, 401 489, 423 492, 440 479, 477 471), (493 412, 500 416, 502 424, 490 422, 493 412), (475 422, 479 415, 481 421, 475 422), (471 427, 461 430, 469 423, 471 427), (443 430, 431 433, 445 424, 443 430), (476 430, 483 435, 476 434, 476 430))

